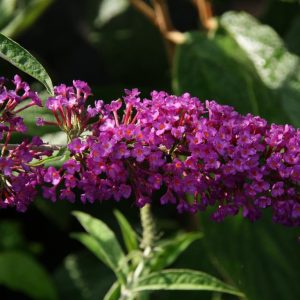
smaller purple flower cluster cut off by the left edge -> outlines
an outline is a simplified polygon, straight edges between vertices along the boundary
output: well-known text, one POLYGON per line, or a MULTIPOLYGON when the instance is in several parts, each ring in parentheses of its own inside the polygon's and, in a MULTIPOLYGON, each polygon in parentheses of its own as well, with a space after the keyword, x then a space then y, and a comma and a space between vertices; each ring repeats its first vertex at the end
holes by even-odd
POLYGON ((50 155, 51 151, 38 149, 43 144, 39 137, 10 148, 12 134, 26 131, 18 113, 42 103, 37 93, 31 91, 19 76, 14 77, 14 89, 9 89, 8 84, 5 78, 0 78, 0 208, 12 206, 25 211, 36 195, 36 186, 42 182, 40 168, 30 164, 50 155))

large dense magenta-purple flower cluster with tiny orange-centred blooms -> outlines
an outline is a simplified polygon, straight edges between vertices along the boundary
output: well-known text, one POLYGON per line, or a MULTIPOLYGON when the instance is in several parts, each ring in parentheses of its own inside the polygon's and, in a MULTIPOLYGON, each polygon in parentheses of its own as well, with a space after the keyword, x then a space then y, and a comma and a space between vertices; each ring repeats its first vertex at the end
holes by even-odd
POLYGON ((39 168, 45 198, 133 197, 142 207, 155 193, 179 212, 212 206, 216 221, 240 211, 254 221, 270 207, 275 222, 300 225, 299 129, 188 93, 153 91, 142 99, 137 89, 125 90, 122 100, 86 107, 89 95, 86 83, 74 81, 46 102, 68 135, 70 158, 59 169, 39 168))

